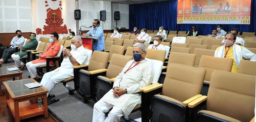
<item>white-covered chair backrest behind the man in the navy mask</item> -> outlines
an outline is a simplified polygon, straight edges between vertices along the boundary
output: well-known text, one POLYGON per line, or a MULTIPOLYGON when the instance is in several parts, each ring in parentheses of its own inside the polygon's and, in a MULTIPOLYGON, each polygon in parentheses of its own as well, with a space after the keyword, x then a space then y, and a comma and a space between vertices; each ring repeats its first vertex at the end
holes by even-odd
POLYGON ((149 58, 145 58, 145 60, 148 61, 152 66, 153 78, 152 78, 151 84, 155 84, 158 82, 164 63, 162 61, 153 60, 149 58))

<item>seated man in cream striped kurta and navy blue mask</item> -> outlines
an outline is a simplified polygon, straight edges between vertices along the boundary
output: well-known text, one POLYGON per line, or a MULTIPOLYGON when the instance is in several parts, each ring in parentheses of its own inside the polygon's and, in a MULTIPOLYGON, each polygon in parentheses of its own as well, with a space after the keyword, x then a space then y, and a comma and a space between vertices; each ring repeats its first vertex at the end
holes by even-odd
POLYGON ((128 116, 136 105, 141 104, 140 88, 151 84, 153 71, 145 60, 146 46, 133 44, 133 58, 116 77, 113 89, 109 90, 93 107, 93 122, 119 122, 122 116, 128 116), (113 108, 112 108, 113 107, 113 108), (105 113, 110 109, 108 117, 105 113))

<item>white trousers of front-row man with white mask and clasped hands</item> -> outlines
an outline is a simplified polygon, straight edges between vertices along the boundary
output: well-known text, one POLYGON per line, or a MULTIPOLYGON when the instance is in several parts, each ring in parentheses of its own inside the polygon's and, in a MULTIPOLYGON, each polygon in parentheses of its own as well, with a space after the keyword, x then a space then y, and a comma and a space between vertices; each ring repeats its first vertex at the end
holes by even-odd
POLYGON ((47 93, 47 96, 48 96, 52 92, 52 89, 55 87, 56 84, 70 77, 72 76, 62 73, 57 68, 54 71, 45 73, 40 84, 42 84, 44 88, 46 88, 49 91, 49 93, 47 93))

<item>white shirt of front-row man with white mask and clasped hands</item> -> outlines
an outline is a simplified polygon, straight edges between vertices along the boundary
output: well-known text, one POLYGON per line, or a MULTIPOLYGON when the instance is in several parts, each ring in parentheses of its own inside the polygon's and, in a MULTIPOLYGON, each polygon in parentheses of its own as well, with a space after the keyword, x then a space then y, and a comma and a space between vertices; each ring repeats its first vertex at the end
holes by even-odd
MULTIPOLYGON (((80 65, 83 65, 88 58, 88 51, 84 48, 84 46, 80 46, 79 48, 70 51, 73 58, 76 59, 76 62, 78 62, 80 65)), ((73 64, 69 60, 68 57, 64 57, 63 61, 59 68, 60 71, 63 71, 63 73, 74 76, 74 69, 73 64)))

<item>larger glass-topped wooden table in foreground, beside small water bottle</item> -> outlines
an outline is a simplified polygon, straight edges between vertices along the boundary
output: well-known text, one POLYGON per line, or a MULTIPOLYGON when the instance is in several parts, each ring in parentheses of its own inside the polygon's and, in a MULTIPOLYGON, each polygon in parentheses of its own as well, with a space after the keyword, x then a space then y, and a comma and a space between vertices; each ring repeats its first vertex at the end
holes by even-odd
POLYGON ((47 93, 43 86, 29 89, 24 84, 36 82, 33 78, 4 82, 6 92, 6 104, 9 107, 15 122, 21 119, 44 115, 48 117, 47 93), (38 103, 29 103, 30 99, 43 97, 43 108, 38 109, 38 103))

